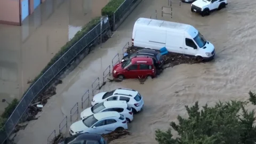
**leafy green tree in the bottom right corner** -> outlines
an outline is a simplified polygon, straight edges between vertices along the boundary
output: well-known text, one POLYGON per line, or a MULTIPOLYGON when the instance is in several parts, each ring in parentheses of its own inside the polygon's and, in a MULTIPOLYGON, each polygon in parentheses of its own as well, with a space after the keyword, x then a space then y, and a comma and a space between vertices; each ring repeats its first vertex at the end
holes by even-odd
MULTIPOLYGON (((255 94, 250 94, 250 101, 254 104, 255 94)), ((254 111, 248 111, 248 102, 230 101, 218 102, 214 107, 203 106, 199 111, 198 102, 192 107, 186 107, 188 118, 178 116, 179 125, 171 122, 179 137, 173 138, 171 128, 167 131, 156 131, 156 141, 159 144, 220 144, 256 142, 256 128, 254 111)), ((255 104, 254 104, 255 105, 255 104)))

